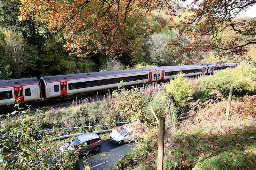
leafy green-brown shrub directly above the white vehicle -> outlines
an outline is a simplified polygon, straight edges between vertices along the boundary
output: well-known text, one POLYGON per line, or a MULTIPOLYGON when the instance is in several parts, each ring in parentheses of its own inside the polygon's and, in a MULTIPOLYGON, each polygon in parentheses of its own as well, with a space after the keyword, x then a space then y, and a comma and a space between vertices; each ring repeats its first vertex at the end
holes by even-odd
POLYGON ((150 121, 145 115, 148 97, 140 93, 138 88, 133 87, 128 91, 122 88, 122 82, 120 82, 118 90, 112 92, 112 95, 116 96, 113 104, 120 115, 125 115, 130 121, 140 121, 142 123, 150 121))

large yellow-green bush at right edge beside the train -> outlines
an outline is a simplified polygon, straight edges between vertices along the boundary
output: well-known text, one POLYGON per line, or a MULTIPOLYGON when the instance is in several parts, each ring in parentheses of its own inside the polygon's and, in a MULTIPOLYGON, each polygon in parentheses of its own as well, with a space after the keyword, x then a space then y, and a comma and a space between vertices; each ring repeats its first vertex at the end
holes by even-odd
POLYGON ((213 76, 200 79, 200 86, 207 93, 219 90, 222 94, 228 94, 231 85, 234 86, 234 93, 255 94, 256 68, 252 65, 241 64, 235 69, 225 69, 215 72, 213 76))

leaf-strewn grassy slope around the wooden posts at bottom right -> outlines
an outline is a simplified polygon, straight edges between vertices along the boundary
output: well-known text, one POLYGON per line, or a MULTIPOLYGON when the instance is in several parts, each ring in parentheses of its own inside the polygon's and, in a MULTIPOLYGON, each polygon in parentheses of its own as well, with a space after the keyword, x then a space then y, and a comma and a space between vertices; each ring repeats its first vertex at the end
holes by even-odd
MULTIPOLYGON (((174 131, 166 129, 163 169, 256 169, 255 113, 232 112, 226 119, 219 106, 212 106, 212 113, 200 110, 174 131)), ((156 142, 141 142, 113 169, 156 169, 156 142)))

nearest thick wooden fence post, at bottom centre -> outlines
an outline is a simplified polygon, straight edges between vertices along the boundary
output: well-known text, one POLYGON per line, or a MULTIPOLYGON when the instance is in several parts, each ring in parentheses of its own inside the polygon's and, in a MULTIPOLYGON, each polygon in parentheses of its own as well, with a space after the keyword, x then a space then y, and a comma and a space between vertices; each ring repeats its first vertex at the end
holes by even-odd
POLYGON ((165 117, 159 117, 159 131, 158 131, 158 150, 157 150, 157 170, 163 169, 164 159, 164 122, 165 117))

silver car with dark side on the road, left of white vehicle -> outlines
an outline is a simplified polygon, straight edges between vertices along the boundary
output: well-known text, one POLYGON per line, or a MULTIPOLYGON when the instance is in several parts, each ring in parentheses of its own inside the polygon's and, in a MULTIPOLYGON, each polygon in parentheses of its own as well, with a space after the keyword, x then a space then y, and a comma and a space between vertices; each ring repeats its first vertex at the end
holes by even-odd
POLYGON ((96 133, 85 133, 79 135, 71 140, 71 142, 64 143, 60 146, 61 152, 74 152, 78 150, 79 155, 88 151, 98 152, 102 146, 102 139, 96 133))

